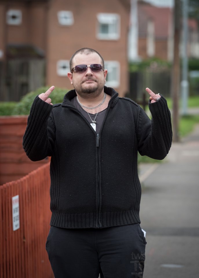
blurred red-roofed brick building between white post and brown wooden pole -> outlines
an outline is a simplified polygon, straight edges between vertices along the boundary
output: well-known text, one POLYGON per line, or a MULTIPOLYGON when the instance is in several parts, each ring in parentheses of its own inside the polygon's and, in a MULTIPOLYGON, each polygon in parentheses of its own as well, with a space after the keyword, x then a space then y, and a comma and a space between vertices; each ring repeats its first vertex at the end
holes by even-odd
POLYGON ((142 58, 173 58, 173 18, 171 8, 138 1, 138 55, 142 58))

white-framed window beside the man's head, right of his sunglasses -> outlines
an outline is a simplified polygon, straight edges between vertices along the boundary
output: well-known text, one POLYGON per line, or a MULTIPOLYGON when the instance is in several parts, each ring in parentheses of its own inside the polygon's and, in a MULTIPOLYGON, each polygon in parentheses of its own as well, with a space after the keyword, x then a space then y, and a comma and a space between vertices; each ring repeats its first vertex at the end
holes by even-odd
POLYGON ((106 84, 107 87, 117 88, 120 85, 120 63, 118 61, 105 61, 105 69, 107 69, 106 84))

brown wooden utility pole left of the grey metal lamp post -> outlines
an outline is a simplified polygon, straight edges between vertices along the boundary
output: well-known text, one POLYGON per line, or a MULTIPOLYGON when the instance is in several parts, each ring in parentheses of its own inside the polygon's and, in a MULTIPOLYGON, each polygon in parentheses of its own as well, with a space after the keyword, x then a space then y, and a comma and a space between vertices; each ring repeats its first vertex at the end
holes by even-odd
POLYGON ((174 63, 172 69, 173 141, 179 141, 179 84, 180 84, 180 0, 174 1, 174 63))

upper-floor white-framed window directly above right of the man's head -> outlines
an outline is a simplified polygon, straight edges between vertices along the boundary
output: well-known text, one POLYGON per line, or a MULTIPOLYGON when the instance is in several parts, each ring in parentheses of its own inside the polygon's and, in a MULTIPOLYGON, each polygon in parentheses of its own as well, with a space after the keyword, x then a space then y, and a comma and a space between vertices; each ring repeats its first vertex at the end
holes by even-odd
POLYGON ((97 38, 100 40, 118 40, 120 38, 119 14, 97 15, 97 38))

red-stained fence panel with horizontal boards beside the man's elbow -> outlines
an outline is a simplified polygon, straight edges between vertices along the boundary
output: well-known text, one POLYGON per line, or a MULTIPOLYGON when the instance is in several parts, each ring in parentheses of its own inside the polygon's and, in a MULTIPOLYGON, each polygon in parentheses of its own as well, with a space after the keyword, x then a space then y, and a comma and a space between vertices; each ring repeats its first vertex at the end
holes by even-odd
POLYGON ((33 162, 22 146, 28 116, 0 117, 0 185, 17 180, 49 159, 33 162))

